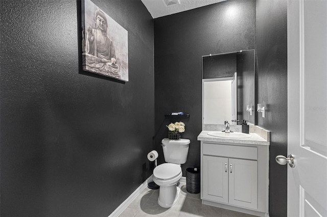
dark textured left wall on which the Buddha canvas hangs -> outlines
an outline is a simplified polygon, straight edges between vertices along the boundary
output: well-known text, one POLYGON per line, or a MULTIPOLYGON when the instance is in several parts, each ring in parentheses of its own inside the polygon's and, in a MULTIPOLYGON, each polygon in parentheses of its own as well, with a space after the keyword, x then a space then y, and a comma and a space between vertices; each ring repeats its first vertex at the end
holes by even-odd
POLYGON ((128 31, 127 83, 79 72, 79 1, 0 2, 1 216, 108 216, 151 174, 153 19, 92 1, 128 31))

